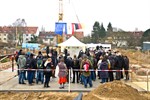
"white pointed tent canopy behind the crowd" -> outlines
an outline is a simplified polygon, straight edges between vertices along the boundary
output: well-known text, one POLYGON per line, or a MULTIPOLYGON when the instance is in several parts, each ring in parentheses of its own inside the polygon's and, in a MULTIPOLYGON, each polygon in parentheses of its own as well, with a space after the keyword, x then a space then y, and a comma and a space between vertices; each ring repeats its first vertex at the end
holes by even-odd
POLYGON ((74 36, 71 36, 68 40, 64 41, 63 43, 58 44, 58 46, 61 47, 61 52, 63 52, 63 50, 67 48, 71 57, 73 57, 74 54, 77 55, 80 50, 85 51, 86 49, 86 44, 82 43, 74 36))

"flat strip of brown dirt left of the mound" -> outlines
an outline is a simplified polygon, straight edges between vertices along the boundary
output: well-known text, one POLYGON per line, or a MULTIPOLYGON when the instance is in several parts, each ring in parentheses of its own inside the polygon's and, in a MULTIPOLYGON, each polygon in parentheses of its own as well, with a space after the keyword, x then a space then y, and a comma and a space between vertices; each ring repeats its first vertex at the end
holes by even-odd
POLYGON ((60 92, 3 92, 0 100, 73 100, 78 93, 60 92))

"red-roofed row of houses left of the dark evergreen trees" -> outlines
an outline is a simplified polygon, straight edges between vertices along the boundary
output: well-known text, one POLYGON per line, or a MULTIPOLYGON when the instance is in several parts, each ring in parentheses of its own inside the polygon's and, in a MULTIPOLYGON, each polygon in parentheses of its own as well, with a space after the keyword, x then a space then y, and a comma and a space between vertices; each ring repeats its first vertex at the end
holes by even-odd
MULTIPOLYGON (((43 44, 52 44, 56 45, 58 42, 62 42, 65 39, 72 36, 72 34, 66 34, 63 36, 58 36, 55 32, 52 31, 40 31, 38 27, 27 26, 27 27, 9 27, 3 26, 0 27, 0 42, 8 43, 11 41, 16 41, 18 34, 22 35, 22 43, 28 43, 31 41, 33 35, 38 37, 38 41, 43 44), (17 35, 16 35, 17 34, 17 35)), ((74 34, 79 40, 82 40, 84 37, 83 31, 77 31, 74 34)))

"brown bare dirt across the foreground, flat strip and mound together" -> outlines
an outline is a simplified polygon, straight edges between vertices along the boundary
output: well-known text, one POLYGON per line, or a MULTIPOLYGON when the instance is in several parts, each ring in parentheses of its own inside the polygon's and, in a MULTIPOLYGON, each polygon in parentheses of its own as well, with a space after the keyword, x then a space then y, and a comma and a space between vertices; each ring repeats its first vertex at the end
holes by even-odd
MULTIPOLYGON (((0 100, 74 100, 79 93, 65 92, 0 92, 0 100)), ((150 93, 139 93, 120 81, 100 85, 82 100, 150 100, 150 93)))

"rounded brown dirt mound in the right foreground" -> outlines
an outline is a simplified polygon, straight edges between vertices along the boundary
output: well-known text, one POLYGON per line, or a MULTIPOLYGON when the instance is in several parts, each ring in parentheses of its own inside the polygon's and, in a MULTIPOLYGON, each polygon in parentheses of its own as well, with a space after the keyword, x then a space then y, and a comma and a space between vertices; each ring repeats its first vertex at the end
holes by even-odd
POLYGON ((83 97, 84 100, 147 100, 138 91, 120 81, 100 85, 83 97))

